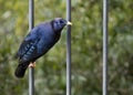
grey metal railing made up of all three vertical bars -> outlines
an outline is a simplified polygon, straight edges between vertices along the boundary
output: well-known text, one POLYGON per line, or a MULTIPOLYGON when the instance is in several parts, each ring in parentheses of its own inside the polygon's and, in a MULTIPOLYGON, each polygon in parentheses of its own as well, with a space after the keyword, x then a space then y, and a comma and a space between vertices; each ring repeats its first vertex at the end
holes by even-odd
MULTIPOLYGON (((66 20, 71 21, 71 0, 66 0, 66 20)), ((34 0, 29 0, 29 31, 34 24, 34 0)), ((29 68, 29 95, 34 95, 34 68, 29 68)), ((66 28, 66 95, 71 95, 71 25, 66 28)), ((103 95, 108 95, 108 0, 103 0, 103 95)))

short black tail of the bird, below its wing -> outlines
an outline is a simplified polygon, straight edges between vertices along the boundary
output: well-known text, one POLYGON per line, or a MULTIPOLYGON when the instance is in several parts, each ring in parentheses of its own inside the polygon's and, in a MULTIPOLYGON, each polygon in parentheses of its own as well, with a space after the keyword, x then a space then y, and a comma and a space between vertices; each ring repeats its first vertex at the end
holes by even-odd
POLYGON ((19 63, 18 67, 16 68, 14 75, 19 78, 22 78, 29 64, 30 64, 29 62, 19 63))

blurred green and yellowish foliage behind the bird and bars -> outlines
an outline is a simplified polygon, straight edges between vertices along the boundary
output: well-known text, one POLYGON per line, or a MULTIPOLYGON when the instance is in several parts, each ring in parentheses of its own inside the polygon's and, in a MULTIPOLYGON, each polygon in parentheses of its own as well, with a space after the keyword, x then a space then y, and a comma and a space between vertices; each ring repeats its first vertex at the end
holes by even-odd
MULTIPOLYGON (((65 0, 34 0, 34 24, 65 18, 65 0)), ((133 94, 133 1, 109 2, 109 95, 133 94)), ((13 73, 28 30, 28 0, 0 0, 0 95, 28 95, 13 73)), ((72 95, 102 95, 102 0, 72 0, 72 95)), ((65 29, 37 61, 35 95, 65 95, 65 29)))

